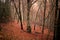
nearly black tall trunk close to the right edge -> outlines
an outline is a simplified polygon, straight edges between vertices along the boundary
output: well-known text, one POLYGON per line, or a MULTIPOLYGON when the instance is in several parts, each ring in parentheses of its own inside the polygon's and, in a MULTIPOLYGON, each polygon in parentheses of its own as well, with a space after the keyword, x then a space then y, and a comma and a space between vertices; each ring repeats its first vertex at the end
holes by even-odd
POLYGON ((53 40, 58 40, 58 37, 57 37, 58 17, 59 17, 58 0, 56 0, 55 27, 54 27, 54 38, 53 38, 53 40))

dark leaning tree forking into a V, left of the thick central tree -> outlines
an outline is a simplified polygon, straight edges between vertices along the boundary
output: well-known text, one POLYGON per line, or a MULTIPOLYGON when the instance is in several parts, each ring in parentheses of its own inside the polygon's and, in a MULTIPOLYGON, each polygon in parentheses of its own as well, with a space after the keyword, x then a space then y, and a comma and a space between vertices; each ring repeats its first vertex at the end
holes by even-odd
POLYGON ((11 0, 12 2, 13 2, 13 4, 14 4, 14 7, 15 7, 15 10, 16 10, 16 14, 18 15, 18 22, 20 21, 20 23, 21 23, 21 29, 23 30, 23 24, 22 24, 22 15, 21 15, 21 9, 20 9, 20 1, 21 0, 18 0, 19 2, 18 2, 18 4, 19 4, 19 8, 17 9, 17 7, 16 7, 16 3, 14 2, 15 0, 11 0), (18 11, 19 10, 19 11, 18 11))

